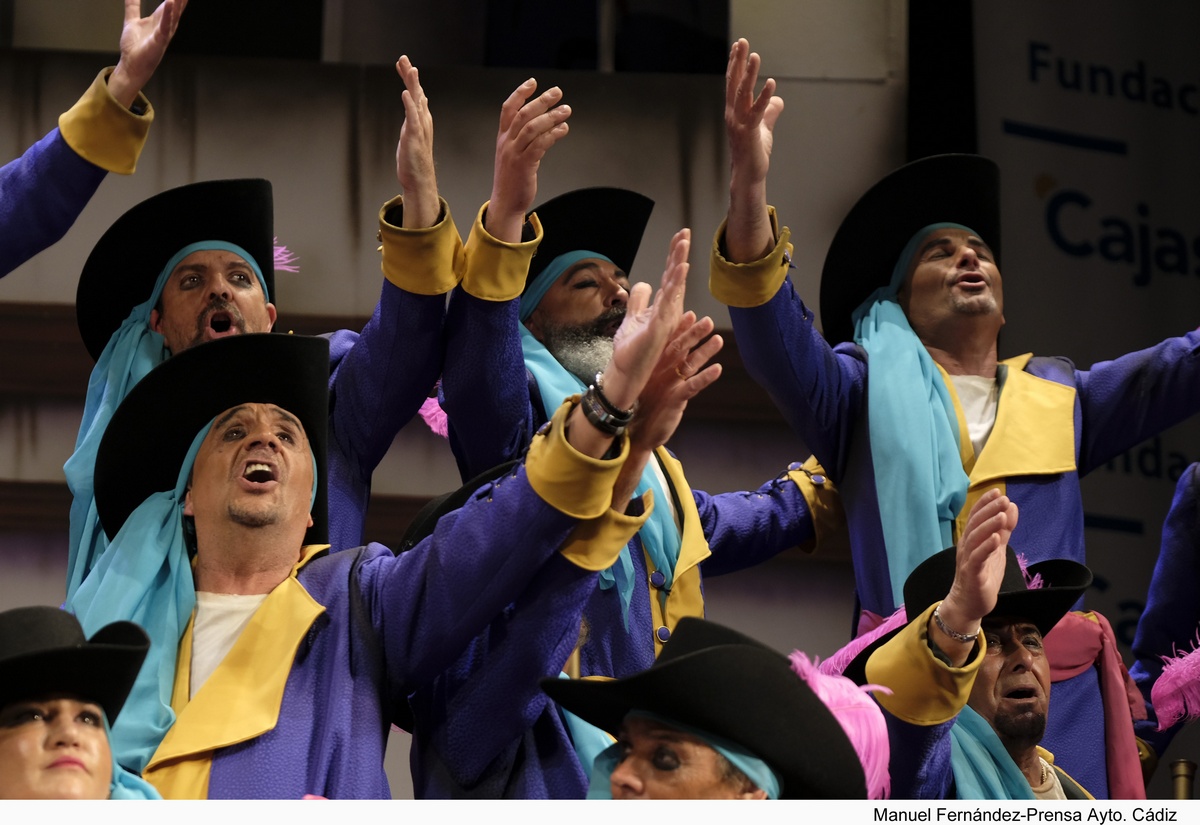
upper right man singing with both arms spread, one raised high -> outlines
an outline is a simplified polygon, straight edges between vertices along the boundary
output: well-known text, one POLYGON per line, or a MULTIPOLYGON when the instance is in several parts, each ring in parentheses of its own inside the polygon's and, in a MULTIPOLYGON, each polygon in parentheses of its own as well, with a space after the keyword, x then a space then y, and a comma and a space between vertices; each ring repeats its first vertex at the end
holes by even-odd
MULTIPOLYGON (((773 79, 755 94, 760 67, 746 41, 733 44, 730 211, 709 285, 730 306, 750 374, 841 492, 859 628, 892 614, 907 574, 954 543, 988 489, 1020 505, 1013 547, 1030 561, 1082 562, 1080 476, 1200 409, 1200 332, 1090 371, 1063 357, 1000 360, 998 173, 986 158, 944 155, 889 174, 842 221, 821 279, 822 337, 792 284, 788 230, 767 205, 784 101, 773 79)), ((1070 655, 1056 658, 1078 662, 1102 636, 1112 644, 1106 625, 1080 620, 1070 655)), ((1097 684, 1096 668, 1058 682, 1055 719, 1127 728, 1105 716, 1097 684)), ((1098 797, 1140 793, 1136 758, 1111 736, 1105 754, 1058 735, 1052 724, 1048 741, 1086 763, 1073 772, 1098 797)))

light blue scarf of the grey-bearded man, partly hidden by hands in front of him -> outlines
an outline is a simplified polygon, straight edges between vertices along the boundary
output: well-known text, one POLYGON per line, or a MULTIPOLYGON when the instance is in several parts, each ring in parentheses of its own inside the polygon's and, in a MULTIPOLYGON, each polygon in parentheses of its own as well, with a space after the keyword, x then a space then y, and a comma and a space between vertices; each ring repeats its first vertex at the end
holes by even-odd
MULTIPOLYGON (((554 415, 554 410, 562 405, 563 401, 587 390, 583 381, 566 372, 523 324, 521 325, 521 349, 524 351, 526 368, 533 373, 534 380, 538 381, 547 418, 554 415)), ((674 582, 674 566, 679 560, 679 546, 683 540, 679 535, 679 528, 676 526, 674 517, 671 514, 671 508, 666 506, 666 493, 649 464, 642 471, 642 480, 634 495, 642 495, 648 489, 654 490, 654 500, 661 504, 650 511, 649 518, 646 519, 637 535, 654 568, 666 577, 666 582, 660 589, 665 600, 674 582)), ((629 604, 637 584, 634 574, 634 559, 629 553, 629 544, 626 544, 620 549, 617 562, 600 572, 600 589, 608 590, 616 586, 620 595, 622 616, 626 631, 629 631, 629 604)))

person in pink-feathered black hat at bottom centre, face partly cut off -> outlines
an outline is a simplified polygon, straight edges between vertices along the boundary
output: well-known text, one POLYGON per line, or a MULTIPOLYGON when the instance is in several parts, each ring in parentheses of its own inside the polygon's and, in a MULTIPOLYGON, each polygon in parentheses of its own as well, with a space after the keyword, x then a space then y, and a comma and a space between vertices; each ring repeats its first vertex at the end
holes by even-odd
POLYGON ((595 759, 588 799, 888 794, 883 715, 865 692, 710 621, 682 619, 634 676, 542 689, 617 739, 595 759))

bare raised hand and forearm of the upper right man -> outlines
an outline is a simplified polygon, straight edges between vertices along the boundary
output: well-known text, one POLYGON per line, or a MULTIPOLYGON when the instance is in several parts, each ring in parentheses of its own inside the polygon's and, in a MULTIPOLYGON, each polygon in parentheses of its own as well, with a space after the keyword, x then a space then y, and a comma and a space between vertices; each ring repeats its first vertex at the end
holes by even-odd
POLYGON ((755 95, 761 66, 762 58, 750 52, 745 38, 733 43, 725 71, 725 133, 730 141, 726 247, 730 260, 739 263, 761 258, 774 245, 767 216, 767 171, 784 98, 775 95, 774 78, 767 78, 755 95))

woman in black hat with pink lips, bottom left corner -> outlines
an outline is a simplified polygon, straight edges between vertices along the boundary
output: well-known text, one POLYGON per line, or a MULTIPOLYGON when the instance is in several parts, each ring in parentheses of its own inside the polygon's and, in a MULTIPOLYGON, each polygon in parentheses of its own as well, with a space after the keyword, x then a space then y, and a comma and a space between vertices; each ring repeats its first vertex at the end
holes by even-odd
POLYGON ((108 745, 149 648, 128 621, 88 639, 58 608, 0 613, 0 799, 158 799, 108 745))

